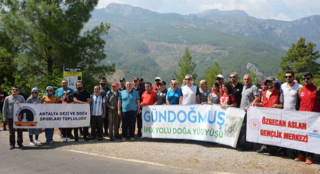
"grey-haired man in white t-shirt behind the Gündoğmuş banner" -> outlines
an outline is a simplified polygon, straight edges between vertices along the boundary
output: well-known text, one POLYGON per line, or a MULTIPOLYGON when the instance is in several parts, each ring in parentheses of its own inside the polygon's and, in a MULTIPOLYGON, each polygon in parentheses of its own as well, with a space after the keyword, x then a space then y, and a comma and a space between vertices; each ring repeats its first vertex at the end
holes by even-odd
POLYGON ((179 104, 200 104, 199 87, 192 85, 192 75, 185 75, 184 80, 186 81, 186 85, 181 87, 179 104))

